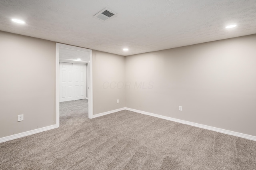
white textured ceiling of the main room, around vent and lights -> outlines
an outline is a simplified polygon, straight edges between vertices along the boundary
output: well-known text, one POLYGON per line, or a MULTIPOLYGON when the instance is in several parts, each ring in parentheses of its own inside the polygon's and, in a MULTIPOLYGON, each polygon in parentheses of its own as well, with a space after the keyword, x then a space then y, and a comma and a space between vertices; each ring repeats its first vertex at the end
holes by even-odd
POLYGON ((0 0, 0 30, 126 56, 256 34, 256 0, 0 0))

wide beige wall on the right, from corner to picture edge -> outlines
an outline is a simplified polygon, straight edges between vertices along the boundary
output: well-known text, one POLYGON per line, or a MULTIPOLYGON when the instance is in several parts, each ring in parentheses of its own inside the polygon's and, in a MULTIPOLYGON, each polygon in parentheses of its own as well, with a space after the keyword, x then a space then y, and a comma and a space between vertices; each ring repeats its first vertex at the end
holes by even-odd
POLYGON ((256 35, 125 62, 126 107, 256 136, 256 35))

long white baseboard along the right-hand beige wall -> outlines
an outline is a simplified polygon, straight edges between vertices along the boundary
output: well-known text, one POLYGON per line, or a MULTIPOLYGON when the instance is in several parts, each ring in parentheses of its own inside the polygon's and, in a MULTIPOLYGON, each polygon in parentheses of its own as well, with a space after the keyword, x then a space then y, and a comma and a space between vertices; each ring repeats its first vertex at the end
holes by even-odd
POLYGON ((207 125, 202 125, 202 124, 193 123, 193 122, 189 122, 189 121, 183 121, 183 120, 180 120, 180 119, 175 119, 175 118, 171 118, 171 117, 157 115, 157 114, 154 114, 154 113, 139 111, 139 110, 136 110, 136 109, 125 108, 125 110, 133 111, 133 112, 141 113, 141 114, 144 114, 144 115, 154 116, 154 117, 158 117, 158 118, 161 118, 161 119, 166 119, 166 120, 169 120, 169 121, 174 121, 174 122, 178 122, 178 123, 182 123, 182 124, 186 124, 186 125, 191 125, 191 126, 194 126, 194 127, 204 128, 204 129, 212 130, 212 131, 215 131, 215 132, 220 132, 220 133, 229 134, 229 135, 238 136, 238 137, 241 137, 241 138, 246 138, 246 139, 249 139, 249 140, 256 141, 256 136, 252 136, 252 135, 249 135, 249 134, 243 134, 243 133, 239 133, 239 132, 225 130, 225 129, 222 129, 222 128, 210 127, 210 126, 207 126, 207 125))

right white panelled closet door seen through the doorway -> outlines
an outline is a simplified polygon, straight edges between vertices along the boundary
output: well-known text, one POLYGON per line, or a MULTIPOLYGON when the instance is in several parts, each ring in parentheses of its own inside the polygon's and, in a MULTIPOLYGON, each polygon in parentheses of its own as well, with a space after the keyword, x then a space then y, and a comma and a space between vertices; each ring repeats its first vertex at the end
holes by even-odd
POLYGON ((73 63, 73 100, 86 98, 86 65, 73 63))

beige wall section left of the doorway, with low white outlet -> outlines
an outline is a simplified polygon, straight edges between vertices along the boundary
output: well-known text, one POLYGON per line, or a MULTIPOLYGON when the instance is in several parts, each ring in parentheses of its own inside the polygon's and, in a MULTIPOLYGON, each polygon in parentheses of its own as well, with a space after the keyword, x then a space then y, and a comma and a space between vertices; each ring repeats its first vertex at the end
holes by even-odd
POLYGON ((55 42, 0 31, 0 138, 56 124, 55 56, 55 42))

